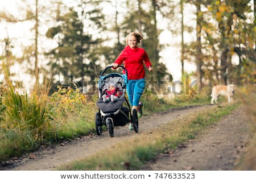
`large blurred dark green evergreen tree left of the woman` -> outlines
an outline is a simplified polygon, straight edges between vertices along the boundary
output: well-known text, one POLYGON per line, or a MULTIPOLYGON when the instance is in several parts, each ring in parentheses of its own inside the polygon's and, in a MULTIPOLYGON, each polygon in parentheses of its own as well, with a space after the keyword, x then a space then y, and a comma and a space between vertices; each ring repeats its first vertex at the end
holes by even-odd
POLYGON ((46 56, 50 59, 48 65, 53 75, 59 75, 59 79, 64 76, 64 80, 73 81, 77 78, 91 81, 96 77, 95 66, 100 68, 100 63, 95 63, 101 56, 98 51, 101 39, 93 37, 93 34, 104 27, 101 25, 104 16, 100 14, 100 9, 89 9, 85 3, 92 5, 82 1, 79 12, 69 8, 63 15, 60 14, 59 6, 56 14, 57 26, 47 31, 48 38, 58 40, 58 46, 47 52, 46 56), (94 27, 93 30, 90 27, 94 27))

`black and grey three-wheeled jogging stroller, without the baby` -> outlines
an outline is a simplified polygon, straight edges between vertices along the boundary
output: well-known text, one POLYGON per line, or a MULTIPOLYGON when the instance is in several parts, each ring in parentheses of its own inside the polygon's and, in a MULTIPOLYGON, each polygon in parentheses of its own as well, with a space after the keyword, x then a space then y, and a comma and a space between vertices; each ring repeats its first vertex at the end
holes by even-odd
POLYGON ((97 135, 102 134, 102 126, 106 126, 109 130, 110 137, 114 137, 114 126, 125 126, 127 123, 133 125, 135 133, 138 133, 138 115, 136 109, 133 109, 131 114, 131 108, 129 101, 126 98, 126 84, 127 70, 122 65, 118 65, 117 68, 121 67, 125 74, 110 73, 104 76, 107 69, 113 68, 113 66, 106 67, 99 76, 98 89, 99 99, 97 101, 98 112, 95 114, 95 125, 97 135), (115 84, 115 88, 121 92, 121 96, 118 96, 118 100, 115 102, 109 101, 104 102, 102 96, 106 94, 108 85, 115 84), (123 106, 125 104, 127 107, 123 106))

